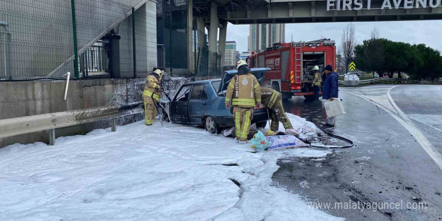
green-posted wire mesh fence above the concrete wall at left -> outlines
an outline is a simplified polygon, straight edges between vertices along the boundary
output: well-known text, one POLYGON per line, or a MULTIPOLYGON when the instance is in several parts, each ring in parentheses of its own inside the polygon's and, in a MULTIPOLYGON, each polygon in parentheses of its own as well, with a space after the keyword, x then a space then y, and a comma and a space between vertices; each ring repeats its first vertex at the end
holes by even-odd
POLYGON ((145 77, 157 66, 156 4, 0 1, 0 80, 145 77))

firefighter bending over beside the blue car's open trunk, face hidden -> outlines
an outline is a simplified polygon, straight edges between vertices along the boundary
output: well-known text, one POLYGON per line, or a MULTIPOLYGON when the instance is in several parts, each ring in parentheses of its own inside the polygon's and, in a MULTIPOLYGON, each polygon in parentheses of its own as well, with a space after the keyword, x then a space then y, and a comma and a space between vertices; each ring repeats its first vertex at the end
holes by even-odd
POLYGON ((281 122, 286 134, 296 135, 290 120, 285 115, 280 92, 271 88, 261 87, 261 102, 267 106, 268 111, 272 114, 271 131, 278 131, 279 122, 281 122))

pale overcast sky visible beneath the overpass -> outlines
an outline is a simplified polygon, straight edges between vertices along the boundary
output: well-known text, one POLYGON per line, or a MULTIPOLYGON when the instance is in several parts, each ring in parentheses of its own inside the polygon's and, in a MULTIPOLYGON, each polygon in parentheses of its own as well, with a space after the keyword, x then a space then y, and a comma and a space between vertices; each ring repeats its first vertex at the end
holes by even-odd
MULTIPOLYGON (((304 23, 286 24, 285 41, 311 41, 321 36, 335 40, 339 45, 343 29, 349 23, 304 23)), ((371 37, 376 27, 381 38, 411 44, 426 44, 442 51, 442 21, 397 21, 397 22, 355 22, 356 40, 362 43, 371 37)), ((227 28, 227 40, 237 42, 237 50, 247 51, 249 25, 232 25, 227 28)))

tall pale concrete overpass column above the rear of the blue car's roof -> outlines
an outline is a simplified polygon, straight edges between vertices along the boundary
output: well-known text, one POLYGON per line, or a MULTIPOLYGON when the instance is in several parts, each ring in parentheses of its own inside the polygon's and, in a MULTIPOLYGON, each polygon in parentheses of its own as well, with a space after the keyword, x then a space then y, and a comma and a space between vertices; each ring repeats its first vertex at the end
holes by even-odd
POLYGON ((215 2, 210 2, 210 28, 209 28, 209 74, 213 75, 216 64, 216 39, 218 37, 218 15, 215 2))

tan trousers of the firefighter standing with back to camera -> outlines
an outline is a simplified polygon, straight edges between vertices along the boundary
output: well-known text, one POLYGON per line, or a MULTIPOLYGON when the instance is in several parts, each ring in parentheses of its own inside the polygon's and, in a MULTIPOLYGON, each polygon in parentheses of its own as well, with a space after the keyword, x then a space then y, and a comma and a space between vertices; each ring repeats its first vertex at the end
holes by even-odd
POLYGON ((237 140, 247 141, 253 118, 253 108, 234 107, 233 114, 237 140))

